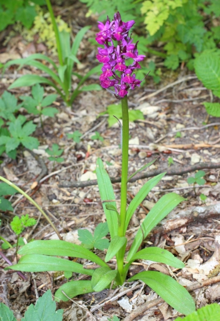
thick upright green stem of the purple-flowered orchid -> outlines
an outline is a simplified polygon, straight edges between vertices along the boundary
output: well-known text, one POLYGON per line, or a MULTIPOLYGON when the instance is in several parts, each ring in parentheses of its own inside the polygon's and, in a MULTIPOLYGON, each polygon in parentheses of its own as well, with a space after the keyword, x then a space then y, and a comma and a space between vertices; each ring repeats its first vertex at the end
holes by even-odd
MULTIPOLYGON (((126 220, 126 210, 127 210, 127 181, 128 181, 128 140, 129 140, 129 119, 128 119, 128 97, 127 95, 121 100, 122 108, 122 170, 121 170, 121 209, 120 209, 120 219, 121 224, 118 228, 118 236, 122 237, 125 235, 124 227, 126 220)), ((123 246, 117 254, 117 265, 118 265, 118 275, 117 282, 123 284, 124 282, 124 255, 125 248, 123 246)))

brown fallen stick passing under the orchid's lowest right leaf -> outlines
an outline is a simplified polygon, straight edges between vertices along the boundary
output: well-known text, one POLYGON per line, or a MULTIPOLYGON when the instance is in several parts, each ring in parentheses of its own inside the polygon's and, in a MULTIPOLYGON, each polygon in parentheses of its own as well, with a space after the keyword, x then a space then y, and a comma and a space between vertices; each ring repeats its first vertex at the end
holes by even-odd
MULTIPOLYGON (((215 284, 217 282, 220 282, 220 275, 214 276, 213 278, 204 280, 202 282, 195 282, 195 283, 189 285, 186 289, 187 289, 187 291, 190 292, 190 291, 193 291, 193 290, 197 290, 197 289, 203 288, 204 286, 215 284)), ((158 305, 158 304, 160 304, 162 302, 164 302, 164 300, 162 298, 154 299, 151 302, 146 302, 142 306, 138 307, 135 311, 131 312, 127 317, 125 317, 124 321, 132 321, 136 317, 138 317, 141 314, 143 314, 149 308, 153 308, 153 307, 155 307, 156 305, 158 305)))

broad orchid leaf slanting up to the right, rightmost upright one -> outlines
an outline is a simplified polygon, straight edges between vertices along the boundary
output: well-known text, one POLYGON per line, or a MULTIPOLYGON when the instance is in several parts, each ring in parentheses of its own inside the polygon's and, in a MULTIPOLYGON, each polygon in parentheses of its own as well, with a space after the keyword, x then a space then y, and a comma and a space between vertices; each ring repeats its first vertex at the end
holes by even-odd
MULTIPOLYGON (((163 220, 163 218, 167 214, 169 214, 180 202, 184 200, 185 198, 175 193, 163 195, 150 210, 143 223, 141 224, 142 230, 144 232, 144 238, 149 234, 154 226, 156 226, 161 220, 163 220)), ((130 261, 131 257, 136 253, 137 249, 141 245, 141 242, 143 241, 142 230, 139 229, 137 231, 132 246, 128 252, 127 261, 130 261)))

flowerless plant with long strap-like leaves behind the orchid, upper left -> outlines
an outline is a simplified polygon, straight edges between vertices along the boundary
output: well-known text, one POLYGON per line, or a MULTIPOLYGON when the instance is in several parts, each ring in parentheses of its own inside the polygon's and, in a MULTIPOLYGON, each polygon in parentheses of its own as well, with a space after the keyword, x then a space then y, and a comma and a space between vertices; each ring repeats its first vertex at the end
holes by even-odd
POLYGON ((80 74, 73 72, 74 63, 80 64, 78 58, 76 57, 78 48, 80 46, 80 42, 83 39, 85 33, 90 29, 90 26, 82 28, 77 33, 75 40, 71 46, 70 32, 67 32, 66 30, 58 30, 50 0, 45 1, 48 7, 48 11, 50 13, 53 29, 56 36, 59 65, 56 65, 55 62, 48 56, 42 54, 33 54, 28 56, 27 58, 14 59, 8 61, 4 65, 3 73, 5 69, 11 65, 20 65, 19 68, 21 68, 24 65, 29 65, 37 69, 40 69, 42 72, 48 74, 52 78, 52 80, 39 75, 27 74, 16 79, 9 86, 9 89, 23 86, 32 86, 39 83, 48 84, 57 91, 57 93, 61 96, 61 98, 68 106, 72 106, 74 99, 82 91, 101 90, 101 87, 98 84, 90 84, 87 86, 83 86, 84 82, 92 74, 100 72, 99 65, 92 68, 84 76, 81 76, 80 74), (48 64, 52 66, 52 68, 45 65, 41 61, 46 61, 48 64), (73 75, 77 76, 77 78, 79 79, 79 82, 74 91, 72 90, 73 75))

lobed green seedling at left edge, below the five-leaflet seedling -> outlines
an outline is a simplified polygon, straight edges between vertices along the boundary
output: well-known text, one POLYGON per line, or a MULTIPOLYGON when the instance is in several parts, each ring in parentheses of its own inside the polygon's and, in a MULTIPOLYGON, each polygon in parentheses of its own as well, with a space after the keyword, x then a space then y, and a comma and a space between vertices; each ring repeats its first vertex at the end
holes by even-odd
POLYGON ((32 121, 26 122, 26 120, 26 117, 19 115, 13 122, 8 123, 9 134, 1 135, 1 144, 13 159, 16 157, 16 148, 20 144, 31 150, 39 146, 38 139, 30 137, 35 131, 36 125, 32 121))

